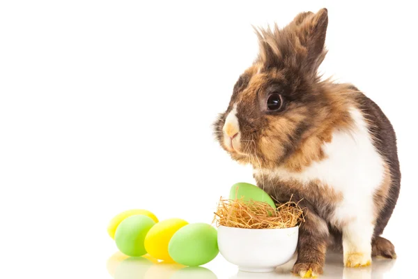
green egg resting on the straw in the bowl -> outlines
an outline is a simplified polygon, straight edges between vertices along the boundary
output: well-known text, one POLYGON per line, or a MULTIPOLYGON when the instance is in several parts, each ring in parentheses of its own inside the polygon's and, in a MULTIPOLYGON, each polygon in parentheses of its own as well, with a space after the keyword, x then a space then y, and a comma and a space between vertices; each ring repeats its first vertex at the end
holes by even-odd
POLYGON ((258 202, 266 202, 276 208, 272 198, 268 193, 265 193, 263 189, 258 188, 257 186, 250 183, 235 183, 231 187, 231 192, 229 193, 230 199, 243 199, 246 202, 249 202, 250 199, 258 202))

